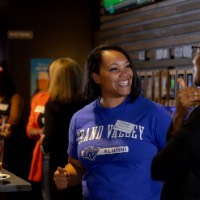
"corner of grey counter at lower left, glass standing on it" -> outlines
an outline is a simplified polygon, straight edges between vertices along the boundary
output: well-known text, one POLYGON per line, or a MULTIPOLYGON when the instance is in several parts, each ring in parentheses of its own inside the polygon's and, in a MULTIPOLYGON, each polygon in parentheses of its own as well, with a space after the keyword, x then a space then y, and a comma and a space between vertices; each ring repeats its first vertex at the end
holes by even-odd
POLYGON ((20 192, 31 191, 31 184, 13 173, 2 169, 3 174, 8 174, 10 177, 0 180, 0 192, 20 192))

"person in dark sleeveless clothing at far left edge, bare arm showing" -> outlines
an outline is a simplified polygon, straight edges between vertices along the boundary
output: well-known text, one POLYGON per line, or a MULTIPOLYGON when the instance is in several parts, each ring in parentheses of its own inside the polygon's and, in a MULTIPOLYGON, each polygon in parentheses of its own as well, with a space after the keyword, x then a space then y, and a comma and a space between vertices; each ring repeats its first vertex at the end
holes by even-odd
POLYGON ((20 155, 20 152, 18 152, 19 140, 24 133, 22 124, 23 109, 23 98, 16 92, 9 71, 0 66, 0 116, 4 116, 6 127, 11 130, 7 131, 7 135, 5 135, 3 167, 16 175, 20 175, 17 163, 20 155))

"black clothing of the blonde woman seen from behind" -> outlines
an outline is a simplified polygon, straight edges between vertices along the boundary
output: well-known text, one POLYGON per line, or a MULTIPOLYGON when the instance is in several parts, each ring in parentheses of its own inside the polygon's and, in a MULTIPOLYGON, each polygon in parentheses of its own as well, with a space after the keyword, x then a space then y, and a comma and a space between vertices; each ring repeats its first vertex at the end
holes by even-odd
MULTIPOLYGON (((45 105, 45 137, 42 141, 42 146, 46 153, 50 153, 49 175, 51 188, 54 188, 54 194, 51 193, 52 199, 54 199, 53 196, 55 196, 55 199, 59 199, 58 194, 56 193, 60 193, 60 191, 56 190, 54 185, 53 173, 58 166, 64 167, 68 162, 68 129, 71 117, 87 103, 89 102, 60 103, 49 100, 45 105)), ((74 195, 77 195, 77 199, 82 199, 82 196, 80 195, 81 185, 77 190, 70 188, 66 192, 68 192, 67 194, 69 194, 69 192, 73 193, 73 197, 75 197, 74 195)), ((61 199, 62 198, 63 197, 61 197, 61 199)))

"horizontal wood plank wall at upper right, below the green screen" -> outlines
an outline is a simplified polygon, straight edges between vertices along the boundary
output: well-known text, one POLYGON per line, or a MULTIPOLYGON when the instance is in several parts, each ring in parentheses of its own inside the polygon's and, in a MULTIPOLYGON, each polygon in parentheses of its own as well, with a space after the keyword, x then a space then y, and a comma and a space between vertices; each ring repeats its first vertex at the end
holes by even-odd
POLYGON ((164 0, 123 13, 102 13, 100 21, 97 44, 122 46, 136 68, 192 68, 191 46, 200 44, 199 0, 164 0))

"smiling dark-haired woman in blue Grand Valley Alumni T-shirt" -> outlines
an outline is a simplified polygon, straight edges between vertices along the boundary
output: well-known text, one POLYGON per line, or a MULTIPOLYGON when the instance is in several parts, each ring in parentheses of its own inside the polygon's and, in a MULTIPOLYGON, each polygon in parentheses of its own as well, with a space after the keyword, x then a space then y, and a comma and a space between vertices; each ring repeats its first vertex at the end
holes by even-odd
POLYGON ((166 144, 171 117, 141 96, 127 52, 100 45, 88 55, 85 97, 97 98, 76 112, 69 127, 69 159, 54 174, 62 190, 82 182, 84 200, 159 200, 161 181, 151 161, 166 144))

